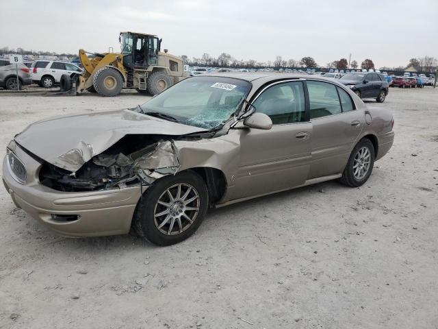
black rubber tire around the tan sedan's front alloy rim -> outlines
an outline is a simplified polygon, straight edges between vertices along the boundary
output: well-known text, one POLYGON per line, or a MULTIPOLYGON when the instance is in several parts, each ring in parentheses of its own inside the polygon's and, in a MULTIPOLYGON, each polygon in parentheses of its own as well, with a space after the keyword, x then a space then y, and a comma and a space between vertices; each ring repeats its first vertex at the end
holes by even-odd
MULTIPOLYGON (((177 187, 175 187, 177 188, 177 187)), ((182 189, 182 188, 181 188, 182 189)), ((170 191, 173 191, 170 189, 170 191)), ((186 190, 187 191, 187 190, 186 190)), ((172 195, 177 196, 176 192, 171 192, 172 195)), ((181 191, 183 193, 183 191, 181 191)), ((192 191, 191 193, 195 193, 192 191)), ((168 203, 172 203, 171 201, 168 201, 168 203)), ((164 207, 157 211, 161 212, 163 209, 170 209, 170 207, 164 207)), ((147 241, 150 241, 151 243, 155 245, 173 245, 175 243, 179 243, 185 239, 187 239, 189 236, 194 234, 196 230, 201 225, 205 214, 207 213, 208 208, 208 191, 207 186, 205 185, 205 182, 203 179, 196 173, 192 171, 183 171, 181 173, 178 173, 177 175, 167 175, 164 178, 161 178, 157 181, 155 181, 143 194, 142 199, 139 200, 136 212, 133 215, 133 228, 136 231, 136 233, 141 236, 143 239, 146 239, 147 241), (162 230, 159 229, 159 225, 155 219, 155 208, 159 207, 160 204, 158 201, 160 200, 160 197, 164 197, 166 194, 166 190, 168 188, 171 188, 172 186, 175 186, 176 184, 187 184, 192 186, 194 190, 196 191, 198 198, 196 200, 199 200, 198 203, 198 212, 197 214, 194 214, 195 210, 189 210, 188 214, 190 215, 190 211, 192 211, 192 214, 190 216, 194 216, 192 223, 189 223, 186 219, 182 221, 182 224, 186 223, 188 225, 187 228, 184 230, 179 230, 179 232, 172 232, 173 235, 165 234, 162 232, 162 230, 172 230, 170 228, 170 222, 166 221, 166 223, 169 223, 169 226, 163 226, 162 230)), ((158 208, 157 208, 158 209, 158 208)), ((170 213, 169 213, 170 215, 170 213)), ((166 215, 163 215, 166 216, 166 215)), ((181 215, 177 215, 181 219, 181 215)), ((166 216, 167 217, 167 216, 166 216)), ((174 217, 175 218, 175 217, 174 217)), ((172 221, 169 219, 169 221, 172 221)), ((164 220, 160 221, 160 224, 163 223, 164 220)), ((177 229, 178 224, 177 221, 174 221, 175 223, 175 229, 177 229)))

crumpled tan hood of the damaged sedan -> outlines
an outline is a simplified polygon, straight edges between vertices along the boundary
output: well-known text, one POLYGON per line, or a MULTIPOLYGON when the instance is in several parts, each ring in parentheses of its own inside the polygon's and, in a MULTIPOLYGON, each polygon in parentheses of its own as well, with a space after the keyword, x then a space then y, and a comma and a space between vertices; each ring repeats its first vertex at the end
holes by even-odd
POLYGON ((131 110, 115 110, 38 121, 15 136, 15 141, 39 158, 75 172, 128 134, 181 136, 206 131, 131 110))

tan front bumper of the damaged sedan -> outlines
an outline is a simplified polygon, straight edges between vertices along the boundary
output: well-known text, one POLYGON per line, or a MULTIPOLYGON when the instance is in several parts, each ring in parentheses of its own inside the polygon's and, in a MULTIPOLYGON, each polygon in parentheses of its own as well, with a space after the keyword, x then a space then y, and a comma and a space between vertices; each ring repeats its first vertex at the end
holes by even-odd
POLYGON ((140 199, 140 187, 92 192, 55 191, 40 184, 38 180, 41 162, 18 146, 14 154, 25 165, 25 184, 18 183, 12 177, 7 157, 3 160, 3 184, 14 204, 44 226, 58 234, 72 237, 129 232, 140 199), (56 215, 71 217, 66 221, 66 217, 56 215))

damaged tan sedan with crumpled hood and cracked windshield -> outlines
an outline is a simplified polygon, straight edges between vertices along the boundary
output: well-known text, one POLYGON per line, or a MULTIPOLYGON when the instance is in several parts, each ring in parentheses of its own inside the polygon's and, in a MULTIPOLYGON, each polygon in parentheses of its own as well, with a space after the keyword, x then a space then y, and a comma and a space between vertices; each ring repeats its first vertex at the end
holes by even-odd
POLYGON ((55 117, 8 145, 16 206, 65 236, 178 243, 209 207, 339 179, 360 186, 394 120, 320 77, 190 77, 137 108, 55 117))

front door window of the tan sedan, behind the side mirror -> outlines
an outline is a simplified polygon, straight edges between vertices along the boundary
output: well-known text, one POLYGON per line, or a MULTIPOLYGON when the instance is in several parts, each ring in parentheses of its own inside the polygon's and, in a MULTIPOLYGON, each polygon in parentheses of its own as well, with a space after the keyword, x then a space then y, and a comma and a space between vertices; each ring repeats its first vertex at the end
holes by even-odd
POLYGON ((276 84, 254 101, 257 112, 265 113, 274 125, 305 121, 305 96, 302 82, 276 84))

